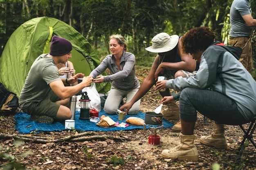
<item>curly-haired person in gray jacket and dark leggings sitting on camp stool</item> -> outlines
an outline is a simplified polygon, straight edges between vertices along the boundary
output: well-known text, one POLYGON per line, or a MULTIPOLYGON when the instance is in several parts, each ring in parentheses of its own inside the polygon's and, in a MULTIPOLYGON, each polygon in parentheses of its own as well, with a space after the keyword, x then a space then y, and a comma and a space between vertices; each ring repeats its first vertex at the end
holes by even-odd
MULTIPOLYGON (((157 90, 181 91, 180 145, 163 150, 162 157, 198 160, 193 132, 197 111, 215 121, 213 134, 202 136, 200 142, 221 149, 227 148, 225 124, 245 124, 256 116, 256 82, 237 59, 240 47, 225 46, 214 39, 208 27, 187 32, 182 38, 182 49, 200 62, 198 72, 193 77, 177 77, 156 84, 157 90)), ((166 102, 170 102, 168 97, 162 99, 162 103, 166 102)))

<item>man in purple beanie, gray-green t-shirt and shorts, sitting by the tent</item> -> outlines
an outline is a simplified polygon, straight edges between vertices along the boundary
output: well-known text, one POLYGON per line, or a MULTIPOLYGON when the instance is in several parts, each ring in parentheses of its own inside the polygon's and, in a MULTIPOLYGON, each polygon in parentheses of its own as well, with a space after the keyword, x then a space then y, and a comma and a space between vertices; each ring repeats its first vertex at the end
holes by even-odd
POLYGON ((66 79, 59 77, 56 64, 65 64, 72 57, 71 52, 71 42, 54 35, 49 54, 40 55, 32 64, 19 98, 20 108, 31 115, 31 121, 52 123, 54 119, 70 119, 70 97, 92 83, 93 78, 84 77, 83 73, 66 79), (81 83, 65 86, 77 82, 80 77, 83 77, 81 83))

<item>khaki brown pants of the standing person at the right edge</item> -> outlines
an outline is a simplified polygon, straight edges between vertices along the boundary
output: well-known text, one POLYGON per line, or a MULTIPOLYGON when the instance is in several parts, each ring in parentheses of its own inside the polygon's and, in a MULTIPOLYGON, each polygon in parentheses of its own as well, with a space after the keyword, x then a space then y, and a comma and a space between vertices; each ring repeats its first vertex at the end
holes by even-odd
POLYGON ((249 37, 230 37, 229 45, 239 46, 243 49, 239 61, 243 64, 247 71, 250 71, 252 67, 252 43, 248 41, 249 37), (247 43, 247 44, 246 44, 247 43), (246 46, 245 46, 246 44, 246 46))

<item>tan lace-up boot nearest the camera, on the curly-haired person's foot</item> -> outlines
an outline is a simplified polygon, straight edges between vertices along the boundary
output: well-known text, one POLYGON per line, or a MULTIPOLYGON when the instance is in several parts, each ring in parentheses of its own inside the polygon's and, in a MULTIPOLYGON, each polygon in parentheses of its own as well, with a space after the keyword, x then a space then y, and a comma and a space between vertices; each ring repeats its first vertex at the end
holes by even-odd
POLYGON ((180 134, 180 144, 170 150, 165 149, 162 151, 161 156, 164 158, 197 161, 198 150, 194 144, 195 135, 182 135, 180 134))

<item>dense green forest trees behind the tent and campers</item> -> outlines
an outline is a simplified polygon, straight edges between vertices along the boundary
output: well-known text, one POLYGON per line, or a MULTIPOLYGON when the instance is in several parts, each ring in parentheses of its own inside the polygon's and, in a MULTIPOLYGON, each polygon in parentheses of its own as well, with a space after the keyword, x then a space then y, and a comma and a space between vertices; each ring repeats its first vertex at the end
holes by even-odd
MULTIPOLYGON (((57 18, 70 24, 96 49, 100 45, 108 53, 109 37, 117 33, 129 38, 129 42, 132 42, 129 48, 135 55, 150 46, 150 40, 159 32, 184 35, 195 26, 210 26, 220 40, 223 31, 220 23, 227 20, 231 2, 232 0, 1 0, 0 47, 4 47, 11 33, 20 24, 40 16, 57 18)), ((252 6, 254 4, 252 2, 252 6)), ((1 52, 2 50, 0 55, 1 52)))

